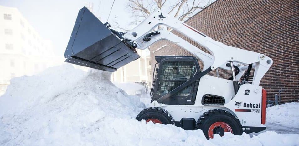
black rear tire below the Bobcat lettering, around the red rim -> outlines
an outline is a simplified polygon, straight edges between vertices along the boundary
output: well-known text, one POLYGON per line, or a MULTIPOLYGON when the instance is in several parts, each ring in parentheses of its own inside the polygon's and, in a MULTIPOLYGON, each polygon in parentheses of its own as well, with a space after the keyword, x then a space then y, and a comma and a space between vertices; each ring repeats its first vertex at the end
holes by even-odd
POLYGON ((207 112, 204 112, 204 114, 202 114, 197 121, 197 128, 203 130, 204 135, 208 140, 210 139, 209 137, 210 126, 214 127, 213 129, 210 129, 210 134, 211 133, 215 134, 215 132, 217 131, 216 133, 220 134, 220 136, 223 136, 224 131, 222 130, 224 130, 225 128, 223 127, 226 126, 222 126, 222 125, 217 127, 212 126, 212 124, 215 125, 216 122, 217 123, 224 122, 225 124, 228 124, 229 128, 231 128, 231 131, 234 135, 242 135, 243 133, 242 125, 239 119, 237 119, 230 112, 222 109, 212 109, 212 110, 208 110, 207 112))

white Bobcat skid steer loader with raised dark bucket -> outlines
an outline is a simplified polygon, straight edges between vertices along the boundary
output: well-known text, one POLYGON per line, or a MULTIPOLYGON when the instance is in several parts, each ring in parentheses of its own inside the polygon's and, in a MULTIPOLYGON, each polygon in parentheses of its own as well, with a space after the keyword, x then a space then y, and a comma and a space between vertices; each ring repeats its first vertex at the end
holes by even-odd
POLYGON ((117 32, 102 23, 86 7, 80 9, 64 56, 66 62, 114 72, 138 59, 136 48, 146 49, 167 39, 193 56, 155 56, 151 107, 142 110, 137 120, 174 124, 185 130, 201 129, 207 139, 224 132, 265 130, 266 91, 261 78, 272 65, 264 54, 227 46, 193 27, 157 10, 128 32, 117 32), (165 25, 206 48, 174 35, 165 25), (218 68, 231 71, 229 79, 220 78, 218 68), (254 69, 252 82, 248 81, 254 69), (216 70, 217 77, 207 75, 216 70), (242 77, 242 80, 240 80, 242 77))

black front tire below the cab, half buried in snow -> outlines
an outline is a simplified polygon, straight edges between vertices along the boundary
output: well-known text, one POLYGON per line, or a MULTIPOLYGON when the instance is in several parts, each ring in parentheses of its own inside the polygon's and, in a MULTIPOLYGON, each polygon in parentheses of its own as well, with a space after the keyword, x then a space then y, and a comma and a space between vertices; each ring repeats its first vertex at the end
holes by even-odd
POLYGON ((136 117, 138 121, 148 120, 148 119, 157 119, 161 121, 162 124, 174 124, 172 116, 160 107, 150 107, 143 109, 136 117))

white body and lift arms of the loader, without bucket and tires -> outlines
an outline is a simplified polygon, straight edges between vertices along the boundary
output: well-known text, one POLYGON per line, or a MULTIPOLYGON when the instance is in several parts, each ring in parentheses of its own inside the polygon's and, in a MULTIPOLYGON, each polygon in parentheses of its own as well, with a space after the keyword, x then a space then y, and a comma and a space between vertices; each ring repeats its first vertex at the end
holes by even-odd
MULTIPOLYGON (((200 115, 204 114, 210 109, 221 109, 233 114, 240 121, 245 132, 259 132, 265 129, 265 125, 262 122, 263 119, 265 119, 265 115, 262 115, 262 113, 265 112, 265 107, 241 107, 236 106, 235 104, 237 102, 260 105, 265 104, 264 99, 266 97, 262 96, 262 91, 265 91, 259 86, 259 84, 261 78, 265 75, 273 63, 271 58, 265 56, 264 54, 227 46, 223 43, 215 41, 202 32, 197 31, 193 27, 180 22, 173 17, 170 17, 166 12, 161 10, 153 12, 137 27, 126 32, 123 37, 128 40, 135 41, 137 43, 137 48, 141 49, 147 48, 158 40, 168 39, 179 46, 182 46, 184 49, 192 53, 194 56, 197 56, 204 62, 203 70, 194 75, 193 78, 187 80, 185 83, 173 89, 172 91, 169 91, 166 95, 163 95, 160 98, 156 98, 155 96, 152 98, 151 106, 161 107, 167 110, 169 114, 172 115, 175 123, 177 123, 177 126, 185 127, 185 124, 182 125, 184 120, 188 120, 188 122, 183 123, 194 123, 194 120, 198 119, 200 115), (200 49, 197 47, 165 29, 160 29, 154 31, 156 33, 152 33, 153 29, 158 25, 165 25, 180 32, 181 34, 206 48, 212 55, 205 53, 204 51, 199 51, 200 49), (149 34, 151 37, 148 37, 146 34, 149 34), (227 63, 229 63, 230 66, 226 66, 227 63), (255 68, 253 82, 252 84, 245 82, 240 84, 239 79, 249 68, 249 65, 249 71, 251 68, 255 68), (239 76, 235 75, 234 66, 238 67, 240 72, 239 76), (207 75, 210 71, 213 71, 217 68, 231 70, 233 80, 221 79, 207 75), (174 98, 176 92, 184 89, 186 86, 194 83, 196 80, 199 80, 199 85, 196 94, 197 100, 195 100, 194 104, 183 105, 184 102, 176 103, 176 105, 169 105, 170 102, 168 102, 168 105, 163 104, 167 100, 174 98), (250 91, 249 94, 247 94, 248 91, 250 91), (198 100, 198 98, 202 98, 204 95, 208 94, 224 97, 224 105, 203 105, 202 99, 198 100)), ((159 67, 160 66, 161 64, 159 67)), ((157 86, 157 84, 158 83, 156 82, 155 86, 157 86)), ((155 86, 154 88, 156 88, 155 86)), ((155 92, 156 89, 154 89, 153 95, 155 95, 155 92)), ((186 129, 192 129, 190 128, 193 127, 192 125, 187 126, 189 128, 186 129)))

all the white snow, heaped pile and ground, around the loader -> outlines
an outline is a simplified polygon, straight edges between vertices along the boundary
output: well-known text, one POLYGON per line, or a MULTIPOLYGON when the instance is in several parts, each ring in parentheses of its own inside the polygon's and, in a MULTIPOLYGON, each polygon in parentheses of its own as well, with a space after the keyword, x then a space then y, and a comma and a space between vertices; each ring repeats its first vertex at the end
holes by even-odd
MULTIPOLYGON (((298 128, 298 106, 268 108, 267 124, 298 128)), ((0 97, 0 145, 298 145, 296 132, 275 129, 257 135, 225 133, 208 141, 201 130, 138 122, 142 109, 140 97, 117 88, 110 73, 71 65, 49 68, 13 78, 0 97)))

